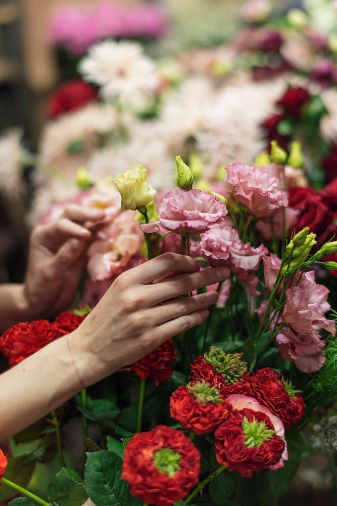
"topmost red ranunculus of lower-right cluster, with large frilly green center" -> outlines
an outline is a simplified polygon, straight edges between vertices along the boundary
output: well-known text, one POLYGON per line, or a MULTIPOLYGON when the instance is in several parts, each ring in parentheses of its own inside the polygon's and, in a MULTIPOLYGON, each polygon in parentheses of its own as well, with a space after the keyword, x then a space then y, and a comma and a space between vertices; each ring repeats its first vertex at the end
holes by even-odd
POLYGON ((249 372, 241 357, 239 353, 224 353, 211 347, 209 354, 195 358, 190 364, 191 380, 204 380, 225 397, 231 394, 247 395, 250 388, 249 372))

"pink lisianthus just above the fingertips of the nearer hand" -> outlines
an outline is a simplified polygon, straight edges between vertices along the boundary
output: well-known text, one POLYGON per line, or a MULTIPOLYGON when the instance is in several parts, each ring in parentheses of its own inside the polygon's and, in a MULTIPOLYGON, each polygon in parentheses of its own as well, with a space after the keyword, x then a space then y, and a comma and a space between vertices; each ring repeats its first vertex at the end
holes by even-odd
POLYGON ((250 286, 252 295, 258 295, 258 279, 251 271, 256 271, 261 259, 268 254, 263 244, 258 248, 253 248, 249 242, 244 244, 237 230, 225 225, 201 234, 200 242, 191 246, 192 251, 195 249, 212 267, 228 267, 237 279, 250 286))

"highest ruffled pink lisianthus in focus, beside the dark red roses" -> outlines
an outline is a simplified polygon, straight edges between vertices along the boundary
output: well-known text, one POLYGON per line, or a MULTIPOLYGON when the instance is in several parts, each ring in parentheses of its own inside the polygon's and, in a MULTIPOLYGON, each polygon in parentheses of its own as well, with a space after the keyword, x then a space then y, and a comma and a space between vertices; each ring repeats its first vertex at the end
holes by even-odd
POLYGON ((238 204, 245 205, 256 218, 272 216, 288 203, 281 181, 270 175, 270 167, 251 167, 242 162, 226 167, 225 189, 238 204))

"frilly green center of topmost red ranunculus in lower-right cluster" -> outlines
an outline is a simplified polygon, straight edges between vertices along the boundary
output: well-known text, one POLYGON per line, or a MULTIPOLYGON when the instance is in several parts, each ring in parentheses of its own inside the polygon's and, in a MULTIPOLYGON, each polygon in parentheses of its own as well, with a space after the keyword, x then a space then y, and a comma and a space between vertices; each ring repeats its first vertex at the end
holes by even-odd
POLYGON ((225 353, 211 346, 210 352, 204 355, 205 362, 212 364, 227 384, 236 383, 247 371, 247 363, 241 360, 242 353, 225 353))

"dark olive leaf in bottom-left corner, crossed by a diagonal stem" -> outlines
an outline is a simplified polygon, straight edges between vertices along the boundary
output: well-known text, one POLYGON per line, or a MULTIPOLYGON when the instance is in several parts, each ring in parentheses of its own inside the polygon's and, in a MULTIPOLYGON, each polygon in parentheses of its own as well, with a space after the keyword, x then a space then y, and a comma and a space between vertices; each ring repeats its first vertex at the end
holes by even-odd
MULTIPOLYGON (((19 457, 10 458, 4 474, 4 478, 23 488, 27 488, 35 470, 35 461, 25 464, 26 457, 27 454, 25 453, 19 457)), ((17 492, 13 488, 0 484, 0 499, 10 499, 14 495, 17 495, 17 492)))

